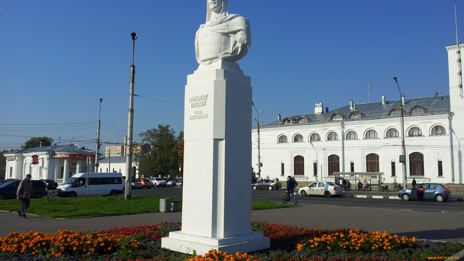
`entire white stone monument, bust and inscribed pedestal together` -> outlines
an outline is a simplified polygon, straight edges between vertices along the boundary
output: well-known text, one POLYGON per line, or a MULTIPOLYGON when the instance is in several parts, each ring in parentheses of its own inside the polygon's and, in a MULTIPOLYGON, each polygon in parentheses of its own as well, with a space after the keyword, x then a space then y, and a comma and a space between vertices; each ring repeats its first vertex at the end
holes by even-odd
POLYGON ((250 25, 228 13, 227 0, 207 7, 195 37, 200 66, 185 86, 182 230, 161 247, 246 253, 270 247, 251 231, 251 79, 235 63, 248 52, 250 25))

